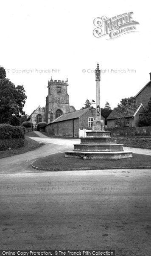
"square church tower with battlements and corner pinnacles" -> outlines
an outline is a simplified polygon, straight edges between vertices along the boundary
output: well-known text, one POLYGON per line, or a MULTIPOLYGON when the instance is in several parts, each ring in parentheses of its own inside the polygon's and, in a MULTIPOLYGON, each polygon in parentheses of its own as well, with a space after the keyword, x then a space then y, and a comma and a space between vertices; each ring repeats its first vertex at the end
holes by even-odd
POLYGON ((48 81, 48 96, 46 97, 46 122, 53 122, 57 117, 70 112, 67 80, 48 81))

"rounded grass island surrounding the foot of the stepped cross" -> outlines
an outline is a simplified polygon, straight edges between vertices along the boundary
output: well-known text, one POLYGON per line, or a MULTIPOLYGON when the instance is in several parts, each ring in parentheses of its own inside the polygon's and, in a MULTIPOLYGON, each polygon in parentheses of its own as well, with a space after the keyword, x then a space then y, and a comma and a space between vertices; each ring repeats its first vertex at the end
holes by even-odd
POLYGON ((144 168, 151 166, 151 156, 133 154, 132 158, 120 160, 83 160, 80 158, 65 157, 65 153, 53 154, 39 158, 34 162, 35 167, 49 169, 101 169, 101 168, 144 168))

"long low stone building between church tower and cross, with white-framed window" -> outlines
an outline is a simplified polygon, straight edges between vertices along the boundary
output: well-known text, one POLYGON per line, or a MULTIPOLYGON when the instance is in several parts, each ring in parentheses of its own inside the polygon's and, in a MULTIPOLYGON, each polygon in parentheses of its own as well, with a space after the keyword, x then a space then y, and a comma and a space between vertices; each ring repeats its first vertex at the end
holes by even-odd
MULTIPOLYGON (((103 116, 101 119, 104 120, 103 116)), ((95 108, 89 107, 63 114, 45 126, 45 131, 55 136, 78 137, 80 129, 92 130, 95 120, 95 108)))

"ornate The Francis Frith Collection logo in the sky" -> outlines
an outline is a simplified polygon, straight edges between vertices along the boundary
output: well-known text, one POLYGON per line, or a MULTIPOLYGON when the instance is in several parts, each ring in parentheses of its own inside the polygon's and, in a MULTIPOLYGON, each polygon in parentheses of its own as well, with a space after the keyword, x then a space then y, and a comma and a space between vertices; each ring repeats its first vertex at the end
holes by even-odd
POLYGON ((93 23, 96 28, 93 30, 93 35, 97 38, 109 35, 108 39, 113 39, 129 32, 136 32, 136 24, 139 22, 132 20, 132 13, 126 12, 112 18, 106 16, 95 18, 93 23))

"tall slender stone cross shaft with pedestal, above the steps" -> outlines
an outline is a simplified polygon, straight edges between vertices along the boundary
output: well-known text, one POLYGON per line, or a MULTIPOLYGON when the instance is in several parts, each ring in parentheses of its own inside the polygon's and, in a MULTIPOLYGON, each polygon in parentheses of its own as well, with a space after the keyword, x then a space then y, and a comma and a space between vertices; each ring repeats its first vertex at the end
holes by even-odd
POLYGON ((101 109, 100 109, 100 69, 97 64, 95 70, 95 81, 96 81, 96 110, 95 110, 95 121, 92 125, 92 131, 104 131, 104 122, 101 120, 101 109))

